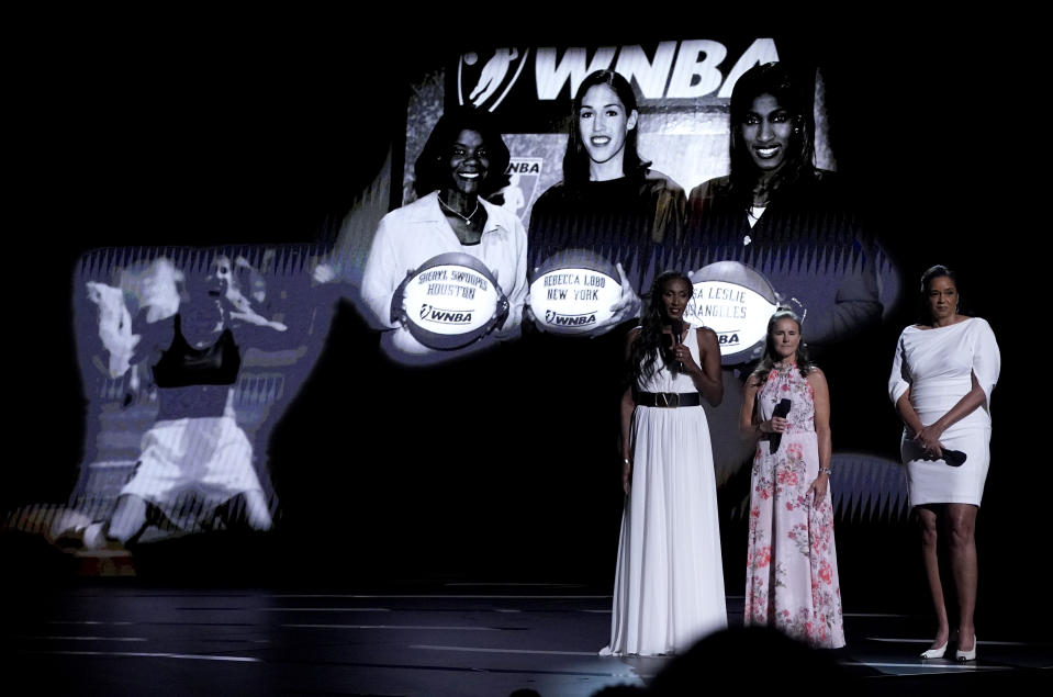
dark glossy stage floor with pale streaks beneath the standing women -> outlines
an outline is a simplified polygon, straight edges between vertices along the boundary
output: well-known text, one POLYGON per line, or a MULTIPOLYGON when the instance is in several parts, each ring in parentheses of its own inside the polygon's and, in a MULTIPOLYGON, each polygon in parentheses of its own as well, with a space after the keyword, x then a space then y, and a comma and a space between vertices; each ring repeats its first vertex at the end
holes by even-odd
MULTIPOLYGON (((646 685, 666 664, 600 657, 610 596, 574 584, 341 592, 114 578, 8 593, 2 608, 5 683, 18 675, 34 694, 504 697, 531 688, 586 697, 608 685, 646 685)), ((915 657, 929 643, 930 618, 847 609, 848 647, 832 657, 856 693, 1044 692, 1053 684, 1045 627, 988 619, 979 660, 956 664, 915 657)), ((741 625, 741 596, 728 597, 728 612, 741 625)), ((755 662, 763 670, 765 656, 755 662)), ((792 679, 822 692, 821 675, 792 679)))

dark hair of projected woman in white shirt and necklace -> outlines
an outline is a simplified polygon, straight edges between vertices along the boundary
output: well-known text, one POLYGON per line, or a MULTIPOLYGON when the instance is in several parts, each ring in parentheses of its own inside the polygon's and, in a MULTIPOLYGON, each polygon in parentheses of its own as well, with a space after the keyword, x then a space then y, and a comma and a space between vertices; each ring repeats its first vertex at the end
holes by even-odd
POLYGON ((490 170, 479 186, 479 195, 485 199, 507 186, 508 177, 505 170, 508 169, 512 154, 501 137, 493 115, 471 106, 457 106, 443 114, 432 128, 432 134, 413 166, 413 188, 418 196, 452 184, 449 169, 450 147, 462 131, 474 131, 482 136, 490 151, 490 170))

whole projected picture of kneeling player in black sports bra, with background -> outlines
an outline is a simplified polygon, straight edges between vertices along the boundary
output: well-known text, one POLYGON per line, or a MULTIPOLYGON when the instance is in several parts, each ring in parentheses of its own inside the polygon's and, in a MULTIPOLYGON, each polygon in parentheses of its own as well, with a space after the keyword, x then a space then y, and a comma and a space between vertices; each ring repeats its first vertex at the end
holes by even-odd
POLYGON ((64 504, 13 511, 12 527, 87 558, 270 530, 269 435, 335 305, 335 289, 307 270, 316 260, 295 245, 85 255, 72 303, 85 461, 64 504))

